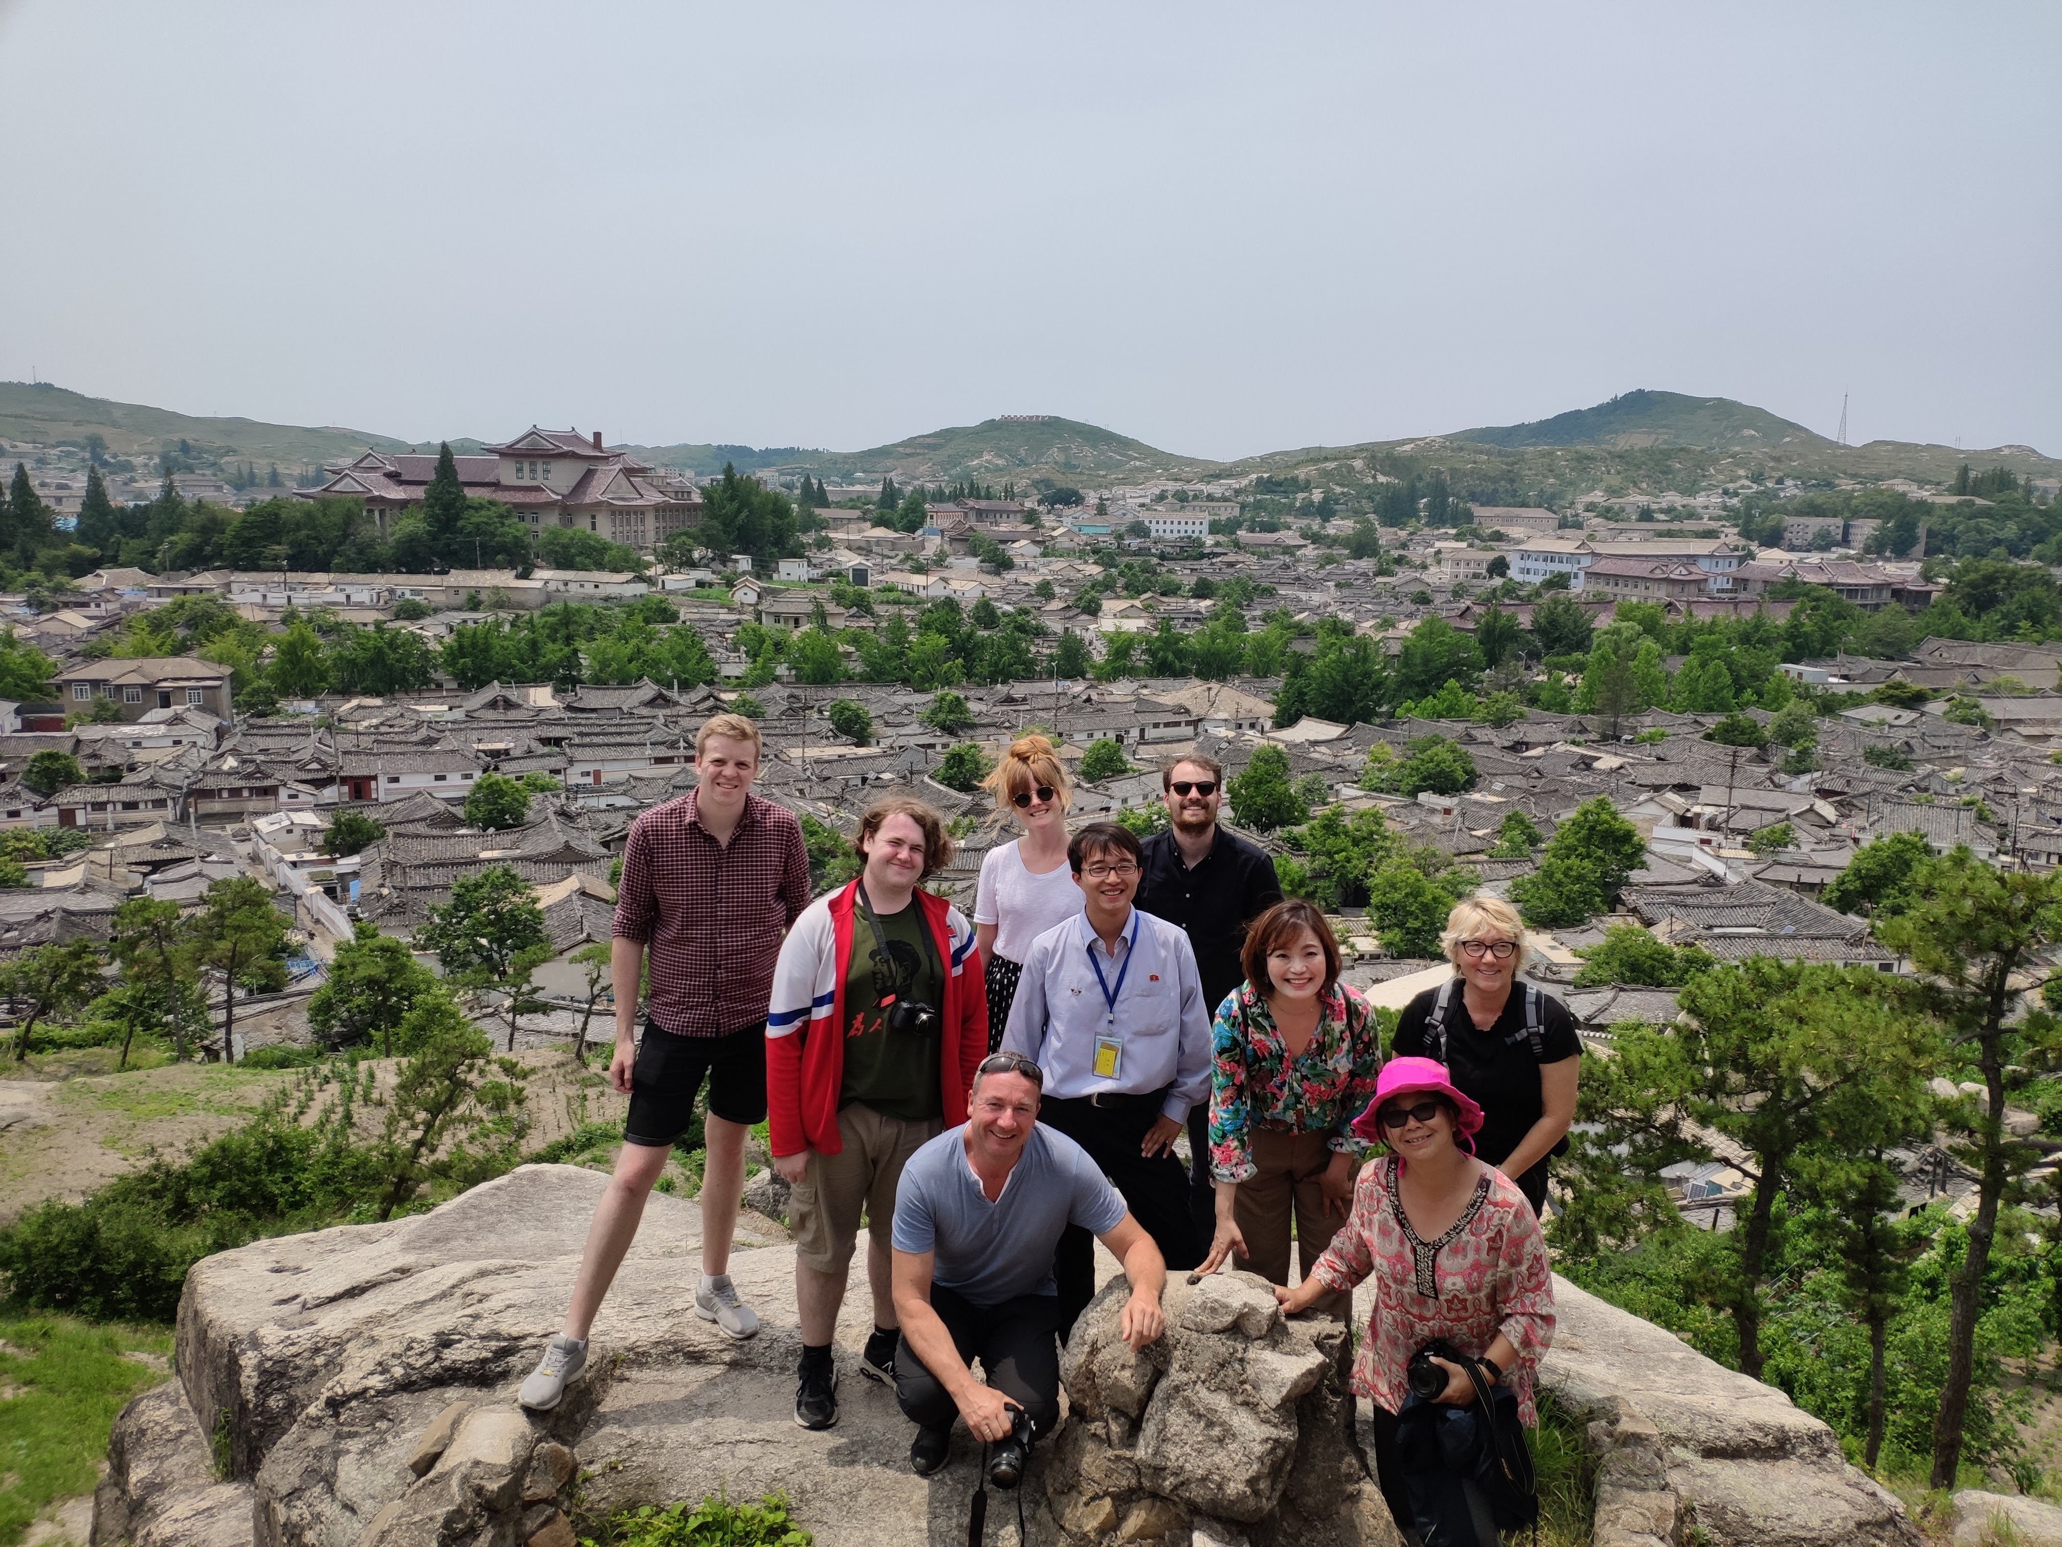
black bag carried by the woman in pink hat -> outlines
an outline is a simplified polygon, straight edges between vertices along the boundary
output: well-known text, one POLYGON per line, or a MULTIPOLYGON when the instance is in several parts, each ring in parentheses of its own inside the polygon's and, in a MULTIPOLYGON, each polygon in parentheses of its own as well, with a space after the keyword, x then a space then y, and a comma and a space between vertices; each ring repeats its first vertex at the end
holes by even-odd
POLYGON ((1493 1541, 1485 1526, 1530 1526, 1536 1537, 1538 1483, 1518 1392, 1491 1386, 1481 1361, 1445 1343, 1429 1343, 1427 1351, 1468 1372, 1474 1405, 1448 1407, 1412 1394, 1398 1413, 1396 1450, 1419 1537, 1425 1547, 1476 1547, 1493 1541))

